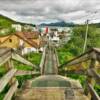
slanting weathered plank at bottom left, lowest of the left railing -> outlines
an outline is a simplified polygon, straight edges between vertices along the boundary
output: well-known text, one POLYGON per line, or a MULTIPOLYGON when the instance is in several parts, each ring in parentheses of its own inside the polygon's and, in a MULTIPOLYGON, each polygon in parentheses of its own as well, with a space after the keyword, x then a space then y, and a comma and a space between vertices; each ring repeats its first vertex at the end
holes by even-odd
POLYGON ((9 89, 3 100, 11 100, 14 93, 17 91, 18 81, 16 81, 9 89))

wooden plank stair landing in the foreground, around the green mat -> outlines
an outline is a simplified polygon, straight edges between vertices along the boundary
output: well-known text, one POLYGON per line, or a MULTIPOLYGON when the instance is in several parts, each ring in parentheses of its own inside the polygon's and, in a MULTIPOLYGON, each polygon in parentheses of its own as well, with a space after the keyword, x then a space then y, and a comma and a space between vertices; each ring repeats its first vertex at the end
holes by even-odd
POLYGON ((78 80, 65 80, 70 82, 70 87, 32 87, 32 80, 28 80, 24 87, 17 91, 14 100, 90 100, 85 96, 78 80))

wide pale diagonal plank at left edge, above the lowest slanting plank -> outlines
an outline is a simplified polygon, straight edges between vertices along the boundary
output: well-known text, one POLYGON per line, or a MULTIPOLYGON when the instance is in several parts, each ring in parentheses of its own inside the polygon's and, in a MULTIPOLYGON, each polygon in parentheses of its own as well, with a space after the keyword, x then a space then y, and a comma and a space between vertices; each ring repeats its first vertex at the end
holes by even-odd
POLYGON ((9 81, 12 79, 12 77, 15 75, 17 69, 11 69, 6 75, 4 75, 0 79, 0 93, 3 91, 5 86, 9 83, 9 81))

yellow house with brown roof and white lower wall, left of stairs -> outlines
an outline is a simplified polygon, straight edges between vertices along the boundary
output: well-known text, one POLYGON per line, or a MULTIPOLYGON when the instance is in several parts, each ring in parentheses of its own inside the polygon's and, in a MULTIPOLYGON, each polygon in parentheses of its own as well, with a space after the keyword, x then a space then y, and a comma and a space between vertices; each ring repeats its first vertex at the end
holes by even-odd
POLYGON ((38 52, 43 46, 38 34, 38 32, 17 32, 12 35, 2 36, 0 37, 0 48, 21 50, 22 54, 31 51, 38 52))

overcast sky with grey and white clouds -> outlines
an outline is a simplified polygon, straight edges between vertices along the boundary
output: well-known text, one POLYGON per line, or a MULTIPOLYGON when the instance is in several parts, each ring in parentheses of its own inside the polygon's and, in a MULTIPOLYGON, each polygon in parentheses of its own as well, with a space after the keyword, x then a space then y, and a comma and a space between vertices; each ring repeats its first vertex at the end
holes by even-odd
POLYGON ((100 22, 100 0, 0 0, 0 14, 17 21, 42 23, 100 22))

